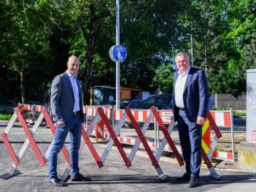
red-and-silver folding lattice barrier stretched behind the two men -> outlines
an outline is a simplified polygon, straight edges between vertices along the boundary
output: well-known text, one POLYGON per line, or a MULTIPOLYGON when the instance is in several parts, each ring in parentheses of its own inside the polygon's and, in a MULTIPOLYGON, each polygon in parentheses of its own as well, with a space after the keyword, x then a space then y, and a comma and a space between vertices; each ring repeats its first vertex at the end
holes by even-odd
MULTIPOLYGON (((89 108, 88 108, 89 109, 89 108)), ((14 114, 9 122, 9 124, 7 125, 4 133, 1 134, 1 137, 6 145, 7 150, 9 151, 11 158, 13 160, 13 165, 10 169, 10 171, 6 174, 1 175, 1 178, 3 179, 7 179, 10 177, 13 177, 14 175, 20 174, 20 172, 17 170, 17 166, 19 165, 20 159, 22 158, 23 154, 25 153, 25 150, 27 149, 29 143, 31 143, 31 146, 33 147, 35 154, 37 155, 37 158, 41 164, 41 166, 45 166, 46 165, 46 161, 49 158, 49 154, 50 154, 50 149, 52 146, 49 146, 49 148, 46 151, 46 154, 44 156, 42 156, 39 148, 36 145, 36 142, 33 138, 34 134, 37 131, 38 126, 41 124, 43 118, 45 118, 46 123, 49 125, 53 135, 55 134, 55 126, 51 121, 51 118, 48 114, 49 109, 46 109, 45 107, 41 108, 42 113, 39 115, 37 121, 35 122, 35 125, 33 126, 33 128, 31 129, 31 131, 29 131, 25 119, 23 119, 22 114, 19 110, 19 108, 15 108, 14 109, 14 114), (21 147, 19 154, 15 155, 12 146, 10 145, 9 140, 7 139, 7 135, 9 134, 14 122, 16 121, 16 119, 19 119, 19 121, 21 122, 21 125, 23 127, 23 130, 25 131, 26 135, 27 135, 27 139, 24 142, 23 146, 21 147)), ((97 109, 98 113, 95 114, 90 126, 88 127, 87 131, 85 131, 84 129, 82 129, 82 141, 81 141, 81 147, 79 150, 79 153, 81 152, 82 148, 84 147, 85 143, 87 144, 87 146, 89 147, 95 161, 97 162, 97 165, 99 167, 103 166, 103 163, 105 162, 105 159, 108 156, 108 153, 111 149, 111 147, 113 146, 113 144, 115 143, 115 145, 117 146, 117 149, 119 151, 119 153, 121 154, 123 161, 125 163, 125 165, 127 167, 131 166, 133 157, 135 156, 135 153, 137 152, 141 142, 142 145, 144 146, 144 148, 146 149, 149 158, 151 160, 151 162, 153 163, 153 165, 155 166, 155 169, 157 171, 158 177, 161 178, 162 180, 167 179, 166 175, 164 175, 161 167, 158 164, 159 158, 165 148, 166 143, 168 142, 169 146, 171 147, 175 157, 178 160, 178 163, 180 164, 180 166, 182 166, 183 160, 177 150, 177 148, 175 147, 170 134, 173 130, 174 127, 174 121, 173 119, 171 119, 171 122, 169 124, 168 129, 166 129, 163 120, 161 119, 161 117, 159 116, 157 110, 155 109, 155 107, 151 107, 150 111, 143 111, 143 121, 145 121, 145 123, 143 124, 142 129, 140 130, 140 127, 137 123, 137 119, 138 119, 138 111, 131 111, 129 107, 125 108, 124 111, 122 111, 122 113, 116 113, 115 114, 115 119, 118 119, 118 124, 116 125, 116 127, 114 125, 110 125, 109 121, 108 121, 108 117, 113 116, 113 113, 110 113, 109 109, 105 109, 103 110, 101 107, 99 107, 97 109), (146 112, 146 115, 144 115, 146 112), (154 118, 153 118, 154 117, 154 118), (132 148, 131 154, 129 157, 126 156, 117 135, 119 134, 119 132, 121 131, 122 126, 124 125, 124 122, 126 121, 126 118, 132 123, 132 125, 134 126, 135 131, 137 132, 139 138, 137 140, 134 140, 134 146, 132 148), (148 145, 148 142, 145 139, 145 133, 149 127, 149 124, 156 121, 159 124, 159 127, 161 128, 163 134, 164 134, 164 138, 161 142, 161 146, 159 146, 156 156, 153 155, 153 153, 151 152, 151 149, 148 145), (95 127, 95 125, 97 125, 97 123, 99 122, 103 122, 103 125, 106 126, 106 129, 108 130, 109 134, 110 134, 110 140, 108 142, 108 145, 106 147, 106 149, 104 150, 101 158, 99 157, 99 155, 97 154, 97 151, 95 150, 95 148, 93 147, 90 139, 89 139, 89 135, 92 133, 93 128, 95 127)), ((92 110, 92 113, 94 113, 94 111, 92 110)), ((89 115, 89 114, 88 114, 89 115)), ((209 175, 211 175, 212 177, 214 177, 215 179, 219 179, 221 178, 220 175, 218 175, 215 170, 214 167, 212 166, 210 159, 214 153, 214 149, 217 146, 218 140, 220 137, 222 137, 215 121, 214 121, 214 117, 212 117, 210 111, 207 111, 207 120, 205 121, 205 124, 210 123, 213 127, 213 130, 216 134, 211 146, 207 146, 207 150, 204 148, 204 145, 202 145, 202 156, 205 160, 205 163, 207 165, 207 167, 209 168, 209 175)), ((83 126, 84 127, 84 126, 83 126)), ((204 140, 204 139, 203 139, 204 140)), ((70 172, 70 162, 69 162, 69 153, 66 149, 65 146, 63 146, 62 148, 62 153, 65 156, 68 166, 66 167, 66 170, 63 172, 63 174, 61 175, 61 180, 64 181, 67 179, 69 172, 70 172)))

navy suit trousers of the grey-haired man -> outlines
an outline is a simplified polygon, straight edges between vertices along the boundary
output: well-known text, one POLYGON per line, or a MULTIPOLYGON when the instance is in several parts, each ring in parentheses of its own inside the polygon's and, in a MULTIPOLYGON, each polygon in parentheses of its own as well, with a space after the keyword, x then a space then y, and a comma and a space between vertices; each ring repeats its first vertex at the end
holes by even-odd
POLYGON ((182 154, 186 163, 186 172, 199 178, 202 162, 202 125, 190 122, 184 110, 179 110, 178 131, 182 154))

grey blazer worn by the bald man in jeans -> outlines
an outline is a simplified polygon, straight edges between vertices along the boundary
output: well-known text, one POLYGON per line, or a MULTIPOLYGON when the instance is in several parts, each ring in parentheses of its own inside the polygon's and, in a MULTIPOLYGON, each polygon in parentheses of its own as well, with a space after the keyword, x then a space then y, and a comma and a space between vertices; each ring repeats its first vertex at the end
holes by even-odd
MULTIPOLYGON (((80 117, 83 122, 84 116, 82 92, 78 79, 76 79, 76 82, 79 89, 80 117)), ((73 113, 74 104, 75 97, 73 87, 68 77, 68 74, 65 71, 65 73, 56 76, 52 81, 51 108, 53 113, 53 120, 57 121, 59 119, 63 119, 66 124, 73 113)))

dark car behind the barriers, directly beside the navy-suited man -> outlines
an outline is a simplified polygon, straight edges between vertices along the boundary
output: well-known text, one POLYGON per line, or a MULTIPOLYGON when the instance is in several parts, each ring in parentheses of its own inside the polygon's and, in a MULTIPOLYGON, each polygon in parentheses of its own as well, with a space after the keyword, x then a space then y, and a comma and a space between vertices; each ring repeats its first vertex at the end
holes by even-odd
POLYGON ((171 110, 173 108, 172 104, 172 94, 157 94, 152 95, 139 105, 130 105, 131 109, 149 109, 155 106, 158 110, 171 110))

